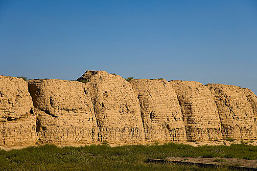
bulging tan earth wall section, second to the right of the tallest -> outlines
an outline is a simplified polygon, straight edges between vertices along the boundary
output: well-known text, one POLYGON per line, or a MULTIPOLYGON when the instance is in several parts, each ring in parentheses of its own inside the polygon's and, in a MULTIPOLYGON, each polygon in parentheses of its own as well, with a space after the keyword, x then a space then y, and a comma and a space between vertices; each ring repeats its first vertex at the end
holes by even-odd
POLYGON ((187 140, 221 139, 221 124, 210 90, 199 82, 170 81, 177 93, 187 132, 187 140))

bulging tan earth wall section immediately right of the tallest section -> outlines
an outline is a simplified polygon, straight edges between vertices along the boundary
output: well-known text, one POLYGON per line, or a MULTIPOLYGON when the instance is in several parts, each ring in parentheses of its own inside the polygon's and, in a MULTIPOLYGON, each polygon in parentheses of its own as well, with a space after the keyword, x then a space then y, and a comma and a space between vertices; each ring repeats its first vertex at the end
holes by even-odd
POLYGON ((164 79, 130 81, 140 101, 147 141, 186 141, 185 124, 177 95, 164 79))

